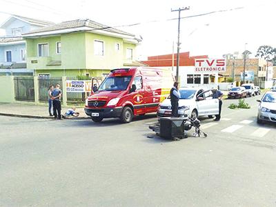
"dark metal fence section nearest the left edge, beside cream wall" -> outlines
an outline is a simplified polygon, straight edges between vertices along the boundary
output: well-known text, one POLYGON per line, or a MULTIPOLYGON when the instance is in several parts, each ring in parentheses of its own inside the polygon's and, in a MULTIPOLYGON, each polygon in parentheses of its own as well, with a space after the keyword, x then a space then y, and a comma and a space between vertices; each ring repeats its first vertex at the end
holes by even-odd
POLYGON ((34 101, 34 77, 14 77, 14 95, 17 101, 34 101))

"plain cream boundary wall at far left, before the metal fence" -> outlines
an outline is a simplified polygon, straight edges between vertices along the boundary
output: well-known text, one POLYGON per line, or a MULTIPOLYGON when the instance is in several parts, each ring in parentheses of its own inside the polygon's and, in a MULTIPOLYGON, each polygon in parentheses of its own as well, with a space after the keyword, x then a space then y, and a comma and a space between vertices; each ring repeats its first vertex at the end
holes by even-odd
POLYGON ((14 101, 14 82, 12 76, 0 76, 0 102, 14 101))

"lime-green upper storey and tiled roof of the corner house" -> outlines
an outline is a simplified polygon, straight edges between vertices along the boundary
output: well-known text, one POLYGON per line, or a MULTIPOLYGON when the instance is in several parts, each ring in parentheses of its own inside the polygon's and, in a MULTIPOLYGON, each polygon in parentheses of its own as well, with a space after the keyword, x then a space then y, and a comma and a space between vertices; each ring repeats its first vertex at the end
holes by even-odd
POLYGON ((112 68, 144 66, 135 61, 141 39, 89 19, 64 21, 23 34, 27 66, 35 75, 102 77, 112 68))

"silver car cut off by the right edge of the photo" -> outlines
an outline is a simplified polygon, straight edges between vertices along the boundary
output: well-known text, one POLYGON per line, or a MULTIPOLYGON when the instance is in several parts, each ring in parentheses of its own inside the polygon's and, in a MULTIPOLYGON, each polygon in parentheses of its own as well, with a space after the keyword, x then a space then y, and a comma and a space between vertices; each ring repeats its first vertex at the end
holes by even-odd
POLYGON ((259 102, 257 123, 262 124, 264 121, 276 122, 276 92, 268 91, 259 102))

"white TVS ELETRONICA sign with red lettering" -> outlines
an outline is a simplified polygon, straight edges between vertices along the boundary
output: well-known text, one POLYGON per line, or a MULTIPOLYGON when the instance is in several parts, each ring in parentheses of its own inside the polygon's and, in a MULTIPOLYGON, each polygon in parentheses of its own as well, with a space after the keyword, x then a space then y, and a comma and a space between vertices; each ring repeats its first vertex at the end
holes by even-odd
POLYGON ((195 59, 195 72, 226 72, 226 59, 195 59))

